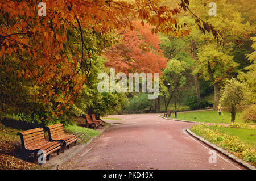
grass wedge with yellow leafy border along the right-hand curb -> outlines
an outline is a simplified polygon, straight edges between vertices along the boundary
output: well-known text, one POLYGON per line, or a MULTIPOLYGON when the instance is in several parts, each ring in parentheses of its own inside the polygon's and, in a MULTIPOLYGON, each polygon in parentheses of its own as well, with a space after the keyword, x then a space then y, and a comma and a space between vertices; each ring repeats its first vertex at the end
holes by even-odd
POLYGON ((191 131, 256 166, 256 129, 193 125, 191 131))

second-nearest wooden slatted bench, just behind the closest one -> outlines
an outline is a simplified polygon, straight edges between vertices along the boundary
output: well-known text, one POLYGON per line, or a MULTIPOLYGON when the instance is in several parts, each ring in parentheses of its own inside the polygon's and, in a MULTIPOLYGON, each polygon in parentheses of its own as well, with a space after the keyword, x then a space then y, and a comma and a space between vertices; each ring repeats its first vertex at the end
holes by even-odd
POLYGON ((63 124, 50 125, 46 127, 46 129, 49 134, 49 141, 61 142, 63 153, 65 151, 66 146, 67 149, 69 149, 69 146, 72 143, 74 143, 74 145, 76 144, 77 136, 75 134, 65 134, 63 124))

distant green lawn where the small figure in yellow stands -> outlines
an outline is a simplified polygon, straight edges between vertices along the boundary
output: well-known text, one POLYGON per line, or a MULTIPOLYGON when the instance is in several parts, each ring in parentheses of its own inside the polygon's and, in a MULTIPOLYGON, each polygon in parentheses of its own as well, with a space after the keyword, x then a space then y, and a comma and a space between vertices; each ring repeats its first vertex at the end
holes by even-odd
MULTIPOLYGON (((172 113, 172 119, 174 118, 174 113, 172 113)), ((217 111, 196 111, 196 112, 178 112, 177 119, 187 120, 187 121, 197 121, 205 123, 231 123, 230 112, 224 111, 223 115, 218 115, 217 111)), ((236 113, 236 123, 243 123, 241 118, 241 112, 236 113)))

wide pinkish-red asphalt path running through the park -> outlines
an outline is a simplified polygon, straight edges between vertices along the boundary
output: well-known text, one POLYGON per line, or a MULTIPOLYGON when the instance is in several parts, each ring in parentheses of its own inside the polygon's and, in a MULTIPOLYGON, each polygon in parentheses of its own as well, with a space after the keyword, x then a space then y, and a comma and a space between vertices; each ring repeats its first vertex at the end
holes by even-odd
POLYGON ((63 169, 243 169, 184 132, 195 123, 166 120, 156 114, 114 115, 113 125, 63 169))

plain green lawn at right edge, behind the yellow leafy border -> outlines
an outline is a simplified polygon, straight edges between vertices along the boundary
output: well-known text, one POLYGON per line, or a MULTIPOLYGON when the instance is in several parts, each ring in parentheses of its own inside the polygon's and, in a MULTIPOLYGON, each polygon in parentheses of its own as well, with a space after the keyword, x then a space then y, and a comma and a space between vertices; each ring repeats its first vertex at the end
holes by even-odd
MULTIPOLYGON (((210 129, 216 131, 216 127, 210 126, 210 129)), ((218 128, 221 133, 229 134, 230 136, 237 136, 238 140, 253 146, 256 149, 256 129, 248 128, 218 128)))

